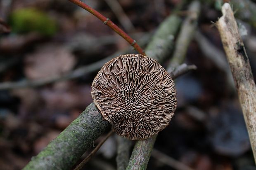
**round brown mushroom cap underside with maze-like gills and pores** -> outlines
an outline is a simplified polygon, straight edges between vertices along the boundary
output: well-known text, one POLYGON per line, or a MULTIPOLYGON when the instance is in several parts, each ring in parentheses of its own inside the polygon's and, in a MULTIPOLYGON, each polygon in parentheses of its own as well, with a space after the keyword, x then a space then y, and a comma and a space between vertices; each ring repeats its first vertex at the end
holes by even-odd
POLYGON ((92 98, 104 119, 120 136, 147 139, 163 130, 177 106, 173 80, 153 58, 118 56, 98 72, 92 98))

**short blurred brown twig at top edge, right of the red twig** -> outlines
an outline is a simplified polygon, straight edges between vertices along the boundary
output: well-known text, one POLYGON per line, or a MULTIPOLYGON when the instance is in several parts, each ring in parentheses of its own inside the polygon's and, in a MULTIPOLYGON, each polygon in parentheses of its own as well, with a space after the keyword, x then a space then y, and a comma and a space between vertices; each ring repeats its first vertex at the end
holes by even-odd
POLYGON ((134 31, 135 28, 133 26, 133 23, 130 21, 129 17, 126 15, 126 13, 123 11, 123 8, 119 4, 117 0, 105 0, 107 5, 111 8, 111 10, 116 15, 116 18, 121 23, 123 28, 125 28, 128 32, 134 31))

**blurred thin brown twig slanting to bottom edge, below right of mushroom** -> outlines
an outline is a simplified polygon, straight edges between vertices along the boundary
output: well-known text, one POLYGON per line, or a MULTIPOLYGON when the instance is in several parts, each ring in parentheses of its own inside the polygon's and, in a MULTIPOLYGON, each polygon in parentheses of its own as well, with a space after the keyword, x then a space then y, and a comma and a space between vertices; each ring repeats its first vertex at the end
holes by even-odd
POLYGON ((152 150, 152 157, 176 170, 194 170, 156 149, 152 150))

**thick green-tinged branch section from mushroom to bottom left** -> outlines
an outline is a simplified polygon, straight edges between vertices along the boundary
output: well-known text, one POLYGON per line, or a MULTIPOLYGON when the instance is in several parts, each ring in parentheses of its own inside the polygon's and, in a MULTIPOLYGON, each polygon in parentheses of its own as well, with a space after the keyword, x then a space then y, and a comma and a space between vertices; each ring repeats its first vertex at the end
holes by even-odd
POLYGON ((23 170, 69 170, 108 128, 109 122, 91 103, 55 140, 31 158, 23 170))

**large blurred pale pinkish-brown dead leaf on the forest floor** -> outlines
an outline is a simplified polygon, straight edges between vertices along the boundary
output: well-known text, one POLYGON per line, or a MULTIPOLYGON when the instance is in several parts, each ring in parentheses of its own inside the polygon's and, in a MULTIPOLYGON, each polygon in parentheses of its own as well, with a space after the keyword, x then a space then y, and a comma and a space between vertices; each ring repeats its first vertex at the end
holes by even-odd
POLYGON ((26 56, 25 74, 29 79, 62 75, 75 65, 75 57, 64 46, 47 44, 26 56))

